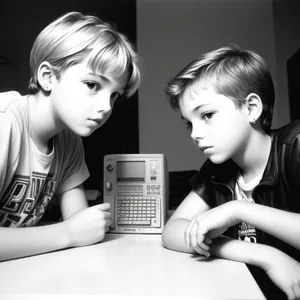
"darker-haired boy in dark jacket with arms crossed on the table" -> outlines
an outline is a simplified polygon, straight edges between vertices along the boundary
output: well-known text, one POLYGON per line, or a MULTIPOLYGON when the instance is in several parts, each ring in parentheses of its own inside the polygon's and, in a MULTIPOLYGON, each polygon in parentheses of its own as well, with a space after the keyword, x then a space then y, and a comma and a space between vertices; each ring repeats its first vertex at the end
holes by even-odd
POLYGON ((299 299, 300 122, 271 130, 264 59, 236 45, 211 51, 172 78, 166 94, 208 159, 166 224, 164 246, 261 268, 299 299))

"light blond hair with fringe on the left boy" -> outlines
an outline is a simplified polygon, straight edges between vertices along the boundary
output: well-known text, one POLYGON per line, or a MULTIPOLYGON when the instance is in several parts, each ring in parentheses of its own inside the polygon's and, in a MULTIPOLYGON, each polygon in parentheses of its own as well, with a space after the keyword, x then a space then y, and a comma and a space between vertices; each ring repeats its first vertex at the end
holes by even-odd
POLYGON ((69 12, 37 36, 30 53, 29 92, 35 94, 41 89, 37 70, 43 61, 52 65, 55 76, 60 79, 67 68, 85 58, 94 73, 121 75, 128 71, 125 96, 133 95, 138 89, 141 80, 139 56, 128 38, 118 32, 115 25, 97 16, 69 12))

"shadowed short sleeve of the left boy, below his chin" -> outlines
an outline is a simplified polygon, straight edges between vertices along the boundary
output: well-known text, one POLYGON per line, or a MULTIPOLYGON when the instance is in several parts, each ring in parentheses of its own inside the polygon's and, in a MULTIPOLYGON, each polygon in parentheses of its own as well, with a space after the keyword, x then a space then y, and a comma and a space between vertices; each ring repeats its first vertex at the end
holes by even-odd
POLYGON ((81 137, 65 132, 60 140, 61 180, 56 193, 63 193, 82 184, 90 175, 84 159, 81 137), (64 147, 61 147, 61 144, 64 147), (63 151, 63 152, 62 152, 63 151))

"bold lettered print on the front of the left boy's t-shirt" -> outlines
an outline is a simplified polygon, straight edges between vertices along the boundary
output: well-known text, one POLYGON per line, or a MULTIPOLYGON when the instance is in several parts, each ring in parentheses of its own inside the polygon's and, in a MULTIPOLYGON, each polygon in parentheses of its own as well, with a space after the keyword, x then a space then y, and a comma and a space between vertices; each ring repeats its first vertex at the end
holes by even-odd
POLYGON ((56 174, 15 175, 0 200, 0 226, 27 227, 39 222, 53 197, 56 174))

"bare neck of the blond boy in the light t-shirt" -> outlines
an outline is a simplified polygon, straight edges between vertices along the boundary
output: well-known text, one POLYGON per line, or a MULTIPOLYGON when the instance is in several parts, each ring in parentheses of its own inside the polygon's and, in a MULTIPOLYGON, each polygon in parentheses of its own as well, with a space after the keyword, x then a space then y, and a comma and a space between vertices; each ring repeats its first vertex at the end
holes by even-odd
POLYGON ((57 126, 49 96, 41 92, 28 97, 31 132, 36 147, 45 154, 52 150, 52 137, 63 128, 57 126))

